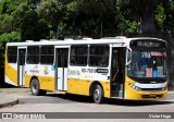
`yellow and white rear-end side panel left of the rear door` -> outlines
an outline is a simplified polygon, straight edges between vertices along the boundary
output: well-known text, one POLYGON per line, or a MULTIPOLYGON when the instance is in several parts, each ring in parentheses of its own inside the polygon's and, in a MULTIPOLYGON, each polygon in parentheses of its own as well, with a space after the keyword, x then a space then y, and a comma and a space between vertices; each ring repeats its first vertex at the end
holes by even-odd
POLYGON ((5 83, 17 86, 17 64, 10 64, 5 60, 5 83))

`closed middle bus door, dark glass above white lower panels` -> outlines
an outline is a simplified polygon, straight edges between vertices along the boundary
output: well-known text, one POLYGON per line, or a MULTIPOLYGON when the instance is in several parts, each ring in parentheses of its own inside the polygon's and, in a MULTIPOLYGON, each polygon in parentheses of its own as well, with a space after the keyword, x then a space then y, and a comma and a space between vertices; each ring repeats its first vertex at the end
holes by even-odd
POLYGON ((55 90, 67 90, 69 48, 57 48, 55 90))

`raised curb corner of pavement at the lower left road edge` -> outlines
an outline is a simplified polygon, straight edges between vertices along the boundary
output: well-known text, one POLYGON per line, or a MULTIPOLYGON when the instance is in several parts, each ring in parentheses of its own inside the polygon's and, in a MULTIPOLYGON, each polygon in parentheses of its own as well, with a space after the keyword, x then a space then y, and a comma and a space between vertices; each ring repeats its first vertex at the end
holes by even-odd
POLYGON ((0 100, 0 109, 8 106, 13 106, 18 103, 18 99, 16 98, 1 98, 3 101, 0 100))

